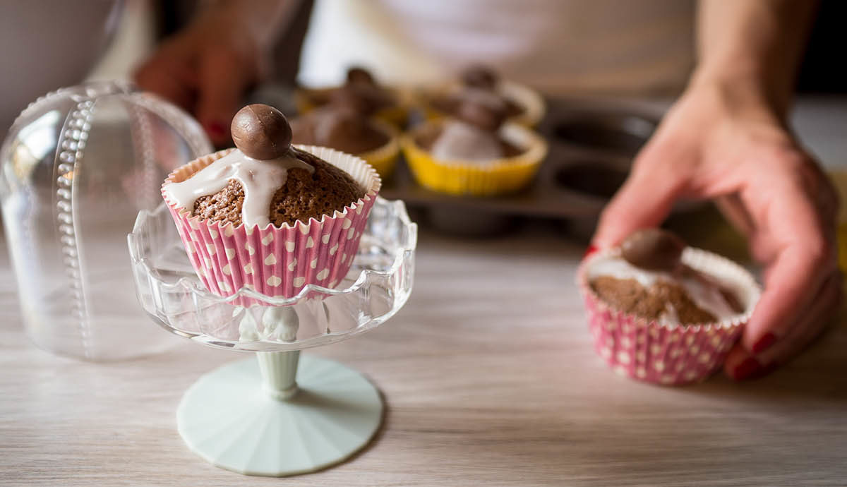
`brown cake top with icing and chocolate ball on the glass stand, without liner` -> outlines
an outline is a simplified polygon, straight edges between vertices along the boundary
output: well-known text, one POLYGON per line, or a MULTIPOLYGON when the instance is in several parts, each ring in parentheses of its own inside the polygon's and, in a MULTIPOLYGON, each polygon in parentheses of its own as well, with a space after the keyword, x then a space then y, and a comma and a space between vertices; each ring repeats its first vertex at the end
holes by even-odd
POLYGON ((163 185, 163 194, 192 216, 282 226, 342 211, 365 194, 343 170, 291 147, 291 126, 276 108, 241 108, 231 131, 237 149, 163 185))

